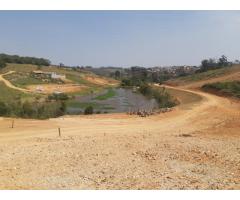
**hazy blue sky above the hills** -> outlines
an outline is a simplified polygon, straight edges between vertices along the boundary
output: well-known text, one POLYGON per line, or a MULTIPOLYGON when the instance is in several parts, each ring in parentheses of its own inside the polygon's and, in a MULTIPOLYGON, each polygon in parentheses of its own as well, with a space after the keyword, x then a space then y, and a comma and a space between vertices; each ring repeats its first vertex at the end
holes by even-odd
POLYGON ((240 11, 0 11, 0 53, 71 66, 240 60, 240 11))

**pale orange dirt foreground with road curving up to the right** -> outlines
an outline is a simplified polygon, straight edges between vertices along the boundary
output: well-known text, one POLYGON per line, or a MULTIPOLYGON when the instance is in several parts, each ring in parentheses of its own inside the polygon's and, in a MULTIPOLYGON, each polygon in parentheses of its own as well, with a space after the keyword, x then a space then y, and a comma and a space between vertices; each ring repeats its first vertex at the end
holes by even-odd
POLYGON ((240 189, 240 104, 168 89, 181 105, 148 118, 0 118, 0 188, 240 189))

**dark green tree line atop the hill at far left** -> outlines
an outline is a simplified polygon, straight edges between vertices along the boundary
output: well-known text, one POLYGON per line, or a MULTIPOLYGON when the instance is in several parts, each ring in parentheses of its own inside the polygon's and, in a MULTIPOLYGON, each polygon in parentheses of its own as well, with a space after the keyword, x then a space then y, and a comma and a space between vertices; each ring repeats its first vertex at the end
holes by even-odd
POLYGON ((44 58, 23 57, 18 55, 0 54, 0 68, 6 66, 7 63, 17 64, 33 64, 38 66, 49 66, 51 62, 44 58))

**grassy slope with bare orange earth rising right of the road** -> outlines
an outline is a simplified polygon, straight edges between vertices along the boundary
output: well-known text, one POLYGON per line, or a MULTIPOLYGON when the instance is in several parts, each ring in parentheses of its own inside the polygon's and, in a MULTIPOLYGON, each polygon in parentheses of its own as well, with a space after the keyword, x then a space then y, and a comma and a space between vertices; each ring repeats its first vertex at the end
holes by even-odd
POLYGON ((165 84, 184 88, 201 88, 206 83, 233 80, 240 80, 240 65, 170 79, 165 84))

